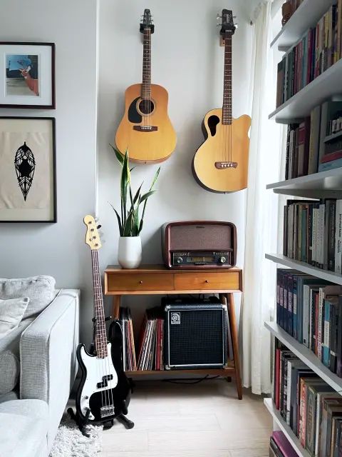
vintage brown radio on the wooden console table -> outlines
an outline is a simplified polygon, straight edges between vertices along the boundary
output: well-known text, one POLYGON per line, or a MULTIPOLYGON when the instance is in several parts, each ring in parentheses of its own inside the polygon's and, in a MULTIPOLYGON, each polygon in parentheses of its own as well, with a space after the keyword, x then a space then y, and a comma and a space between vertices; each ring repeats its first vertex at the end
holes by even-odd
POLYGON ((167 268, 232 268, 237 262, 237 229, 231 222, 179 221, 162 226, 167 268))

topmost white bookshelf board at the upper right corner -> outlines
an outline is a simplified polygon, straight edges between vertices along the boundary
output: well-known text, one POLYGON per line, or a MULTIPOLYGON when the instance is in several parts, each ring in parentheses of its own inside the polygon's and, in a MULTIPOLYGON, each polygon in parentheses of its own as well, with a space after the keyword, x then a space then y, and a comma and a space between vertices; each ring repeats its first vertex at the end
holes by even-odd
POLYGON ((289 49, 296 44, 306 30, 316 25, 316 22, 335 2, 336 0, 304 0, 279 34, 274 37, 271 47, 278 46, 279 51, 289 49))

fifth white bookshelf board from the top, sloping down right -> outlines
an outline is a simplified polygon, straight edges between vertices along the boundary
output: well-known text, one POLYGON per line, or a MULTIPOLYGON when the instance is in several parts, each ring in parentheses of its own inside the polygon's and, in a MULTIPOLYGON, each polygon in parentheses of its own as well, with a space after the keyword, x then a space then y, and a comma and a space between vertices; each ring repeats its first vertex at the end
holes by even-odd
POLYGON ((276 322, 265 322, 265 327, 276 338, 284 343, 297 357, 301 359, 311 370, 313 370, 323 381, 329 384, 336 391, 342 391, 342 378, 338 378, 335 373, 332 373, 325 365, 315 356, 315 354, 299 343, 295 338, 292 338, 289 333, 283 330, 276 322))

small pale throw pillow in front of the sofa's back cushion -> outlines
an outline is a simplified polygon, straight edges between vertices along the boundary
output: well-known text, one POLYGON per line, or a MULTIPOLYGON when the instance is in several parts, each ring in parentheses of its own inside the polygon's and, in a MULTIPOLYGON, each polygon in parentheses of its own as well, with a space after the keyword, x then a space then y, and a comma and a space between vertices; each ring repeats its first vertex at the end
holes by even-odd
POLYGON ((29 298, 0 299, 0 339, 19 326, 29 301, 29 298))

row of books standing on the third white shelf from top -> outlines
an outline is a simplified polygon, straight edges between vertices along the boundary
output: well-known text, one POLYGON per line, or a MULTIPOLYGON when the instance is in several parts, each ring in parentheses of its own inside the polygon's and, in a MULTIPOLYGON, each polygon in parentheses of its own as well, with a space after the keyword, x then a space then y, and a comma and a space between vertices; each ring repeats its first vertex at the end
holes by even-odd
POLYGON ((289 124, 285 179, 342 166, 342 101, 325 101, 300 124, 289 124))

